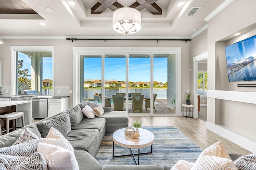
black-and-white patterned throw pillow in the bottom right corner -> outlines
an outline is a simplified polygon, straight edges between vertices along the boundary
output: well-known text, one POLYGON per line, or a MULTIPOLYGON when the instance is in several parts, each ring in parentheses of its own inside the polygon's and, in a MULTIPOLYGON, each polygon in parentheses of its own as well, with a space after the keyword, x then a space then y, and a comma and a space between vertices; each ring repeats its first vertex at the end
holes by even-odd
POLYGON ((241 156, 234 161, 234 164, 239 170, 256 170, 256 154, 241 156))

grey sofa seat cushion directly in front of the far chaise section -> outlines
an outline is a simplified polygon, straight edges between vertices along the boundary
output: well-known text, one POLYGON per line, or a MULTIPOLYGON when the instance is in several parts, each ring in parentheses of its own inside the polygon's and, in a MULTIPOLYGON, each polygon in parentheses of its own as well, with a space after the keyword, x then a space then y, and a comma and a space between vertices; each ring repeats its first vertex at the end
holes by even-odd
POLYGON ((98 129, 100 133, 104 130, 106 120, 104 118, 99 119, 83 119, 77 126, 71 129, 98 129))

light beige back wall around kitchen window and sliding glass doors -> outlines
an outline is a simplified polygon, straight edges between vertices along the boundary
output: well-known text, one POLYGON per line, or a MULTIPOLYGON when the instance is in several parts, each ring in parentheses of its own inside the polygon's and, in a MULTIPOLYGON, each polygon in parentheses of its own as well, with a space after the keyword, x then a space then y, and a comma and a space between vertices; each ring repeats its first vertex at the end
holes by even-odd
MULTIPOLYGON (((4 61, 3 85, 10 86, 10 46, 54 46, 55 47, 55 86, 70 86, 73 88, 73 47, 181 47, 181 100, 186 100, 186 90, 190 89, 190 41, 104 41, 102 40, 78 40, 67 41, 66 39, 2 39, 0 45, 0 60, 4 61)), ((73 96, 70 94, 70 107, 73 105, 73 96)))

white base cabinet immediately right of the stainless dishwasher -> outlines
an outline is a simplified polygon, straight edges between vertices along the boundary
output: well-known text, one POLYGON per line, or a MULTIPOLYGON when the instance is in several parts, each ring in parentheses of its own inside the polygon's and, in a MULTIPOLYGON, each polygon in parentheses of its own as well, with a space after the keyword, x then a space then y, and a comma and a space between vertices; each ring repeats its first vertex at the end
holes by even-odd
POLYGON ((48 99, 48 117, 68 109, 69 97, 48 99))

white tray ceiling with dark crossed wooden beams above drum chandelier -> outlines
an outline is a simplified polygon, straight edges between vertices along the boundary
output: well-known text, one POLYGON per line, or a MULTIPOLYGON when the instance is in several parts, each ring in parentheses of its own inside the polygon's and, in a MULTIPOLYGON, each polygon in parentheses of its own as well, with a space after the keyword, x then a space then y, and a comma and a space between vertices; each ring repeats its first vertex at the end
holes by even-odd
MULTIPOLYGON (((128 0, 127 6, 142 15, 142 28, 129 37, 189 37, 205 27, 204 18, 225 1, 128 0), (180 2, 183 4, 177 6, 180 2)), ((126 0, 1 0, 0 38, 120 37, 123 35, 112 29, 112 14, 122 7, 126 7, 126 0)))

